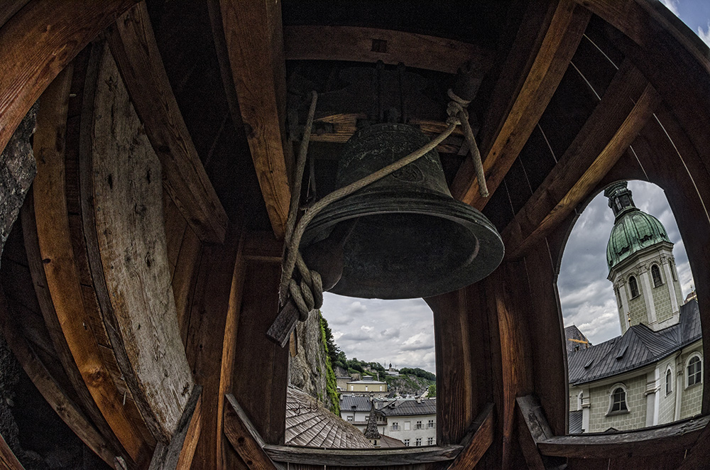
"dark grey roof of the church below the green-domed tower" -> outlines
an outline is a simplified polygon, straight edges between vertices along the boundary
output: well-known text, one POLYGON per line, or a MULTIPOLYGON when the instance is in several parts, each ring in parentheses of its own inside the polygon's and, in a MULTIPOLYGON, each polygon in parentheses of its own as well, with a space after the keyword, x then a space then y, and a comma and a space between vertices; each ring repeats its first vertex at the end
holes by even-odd
POLYGON ((663 359, 701 339, 700 310, 692 300, 680 307, 678 324, 654 332, 645 324, 626 330, 621 337, 587 349, 567 353, 569 383, 589 383, 663 359))

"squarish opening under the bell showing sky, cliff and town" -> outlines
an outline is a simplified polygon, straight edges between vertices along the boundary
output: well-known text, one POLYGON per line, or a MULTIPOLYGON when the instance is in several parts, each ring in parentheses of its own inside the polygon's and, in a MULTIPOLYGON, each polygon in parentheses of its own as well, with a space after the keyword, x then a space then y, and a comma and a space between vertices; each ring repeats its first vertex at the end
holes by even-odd
POLYGON ((315 433, 325 448, 372 447, 376 435, 383 447, 436 445, 434 315, 424 300, 325 293, 320 312, 299 322, 296 334, 289 389, 300 388, 349 425, 339 426, 344 435, 337 439, 320 419, 303 432, 294 411, 298 431, 288 433, 287 408, 287 435, 295 437, 286 444, 312 445, 308 436, 315 433), (313 338, 321 341, 311 344, 313 338))

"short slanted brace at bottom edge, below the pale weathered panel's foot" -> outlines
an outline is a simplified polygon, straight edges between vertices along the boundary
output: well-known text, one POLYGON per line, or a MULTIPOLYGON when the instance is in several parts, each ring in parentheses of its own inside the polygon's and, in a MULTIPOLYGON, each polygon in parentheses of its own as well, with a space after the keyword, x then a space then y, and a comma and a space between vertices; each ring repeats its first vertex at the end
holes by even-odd
POLYGON ((190 400, 185 405, 173 439, 166 445, 160 442, 155 447, 148 470, 190 470, 197 440, 202 428, 202 386, 192 387, 190 400))

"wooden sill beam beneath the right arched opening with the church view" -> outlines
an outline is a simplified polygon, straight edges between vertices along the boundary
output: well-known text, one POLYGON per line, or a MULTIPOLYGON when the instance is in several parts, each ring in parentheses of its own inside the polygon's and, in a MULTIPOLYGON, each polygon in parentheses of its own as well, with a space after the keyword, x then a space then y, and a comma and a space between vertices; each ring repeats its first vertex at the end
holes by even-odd
POLYGON ((701 416, 670 425, 606 435, 545 437, 537 442, 537 447, 543 455, 582 459, 665 454, 692 448, 709 422, 710 417, 701 416))

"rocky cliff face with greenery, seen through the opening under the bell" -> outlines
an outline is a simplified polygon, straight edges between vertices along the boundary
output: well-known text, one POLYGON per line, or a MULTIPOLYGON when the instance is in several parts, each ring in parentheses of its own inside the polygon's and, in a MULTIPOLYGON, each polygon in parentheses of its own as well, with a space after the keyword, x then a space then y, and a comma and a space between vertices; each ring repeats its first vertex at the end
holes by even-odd
POLYGON ((332 410, 333 403, 327 392, 326 352, 321 339, 320 315, 311 312, 305 322, 298 322, 296 334, 298 354, 290 358, 290 383, 332 410))

